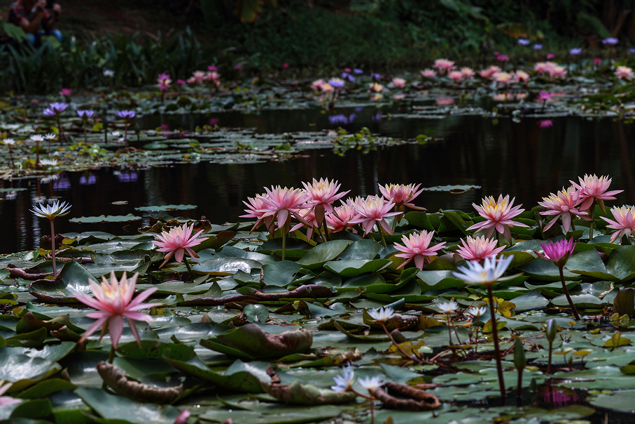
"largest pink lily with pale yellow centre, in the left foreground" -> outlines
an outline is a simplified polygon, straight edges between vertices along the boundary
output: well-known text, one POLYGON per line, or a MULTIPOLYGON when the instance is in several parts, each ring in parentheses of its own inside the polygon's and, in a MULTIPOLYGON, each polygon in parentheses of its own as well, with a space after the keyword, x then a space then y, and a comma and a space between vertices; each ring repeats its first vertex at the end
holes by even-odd
POLYGON ((141 339, 139 338, 135 321, 152 321, 152 317, 137 311, 153 308, 154 306, 161 306, 162 303, 142 303, 150 294, 157 291, 156 287, 143 291, 135 297, 135 299, 132 298, 133 294, 135 294, 135 284, 137 284, 138 276, 139 273, 135 273, 135 275, 128 280, 128 278, 126 278, 126 272, 124 271, 121 280, 117 280, 114 271, 112 271, 110 273, 110 281, 106 280, 105 277, 102 277, 102 284, 88 280, 88 284, 90 284, 90 288, 95 297, 83 293, 73 294, 81 303, 99 310, 98 312, 86 314, 86 317, 96 318, 97 320, 86 329, 81 339, 79 339, 79 343, 82 343, 88 336, 103 325, 100 340, 104 336, 106 329, 108 329, 110 333, 110 343, 112 343, 112 347, 116 350, 119 338, 121 338, 121 332, 123 332, 123 318, 128 318, 130 331, 133 336, 135 336, 135 339, 137 339, 138 345, 141 346, 141 339))

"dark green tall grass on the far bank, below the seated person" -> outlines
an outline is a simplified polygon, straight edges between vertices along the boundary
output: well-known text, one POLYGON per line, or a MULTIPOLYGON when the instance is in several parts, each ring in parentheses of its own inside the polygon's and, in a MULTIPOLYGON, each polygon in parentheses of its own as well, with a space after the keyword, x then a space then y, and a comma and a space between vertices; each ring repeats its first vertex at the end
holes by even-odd
POLYGON ((114 84, 152 84, 157 74, 168 72, 185 78, 195 69, 206 69, 213 57, 190 29, 156 38, 135 34, 72 37, 64 46, 43 43, 29 51, 7 44, 0 50, 0 89, 17 93, 49 93, 62 87, 95 88, 110 84, 102 72, 115 72, 114 84))

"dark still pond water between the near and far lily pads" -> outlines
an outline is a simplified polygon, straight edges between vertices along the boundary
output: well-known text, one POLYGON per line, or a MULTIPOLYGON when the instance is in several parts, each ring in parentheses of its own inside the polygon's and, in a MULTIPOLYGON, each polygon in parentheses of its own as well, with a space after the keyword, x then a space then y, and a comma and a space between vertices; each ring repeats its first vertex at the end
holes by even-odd
MULTIPOLYGON (((235 222, 243 214, 243 200, 262 193, 263 186, 301 186, 312 177, 329 177, 351 189, 350 195, 378 193, 377 184, 421 183, 422 186, 472 184, 482 189, 451 195, 423 193, 417 205, 431 211, 461 209, 471 211, 472 202, 483 196, 509 194, 516 203, 530 209, 542 196, 569 185, 578 175, 595 173, 613 177, 613 189, 624 189, 617 202, 635 203, 634 174, 635 135, 633 125, 622 121, 592 121, 584 118, 554 118, 552 127, 540 128, 538 120, 524 118, 513 123, 509 118, 498 121, 482 116, 447 116, 443 119, 387 118, 397 107, 342 108, 337 122, 321 111, 263 111, 259 114, 206 114, 191 116, 150 116, 144 127, 168 125, 192 130, 196 125, 218 120, 227 127, 256 127, 261 133, 314 131, 337 128, 349 131, 369 127, 384 136, 411 139, 419 134, 442 140, 425 145, 408 144, 362 154, 349 151, 344 157, 330 150, 311 150, 295 160, 248 165, 197 163, 149 170, 107 168, 91 172, 66 172, 51 185, 42 186, 44 196, 60 198, 72 204, 70 214, 56 219, 58 232, 109 231, 123 234, 127 223, 71 224, 70 217, 126 215, 135 207, 166 204, 197 205, 197 209, 170 212, 185 217, 204 215, 211 222, 235 222), (351 122, 352 115, 352 122, 351 122), (315 125, 312 125, 315 124, 315 125), (126 201, 127 205, 112 202, 126 201)), ((4 186, 10 182, 4 181, 4 186)), ((16 180, 15 200, 0 202, 3 231, 0 251, 15 252, 39 247, 39 237, 48 233, 48 222, 29 212, 37 195, 34 179, 16 180)), ((157 216, 159 214, 153 213, 157 216)), ((137 222, 131 228, 137 228, 137 222)))

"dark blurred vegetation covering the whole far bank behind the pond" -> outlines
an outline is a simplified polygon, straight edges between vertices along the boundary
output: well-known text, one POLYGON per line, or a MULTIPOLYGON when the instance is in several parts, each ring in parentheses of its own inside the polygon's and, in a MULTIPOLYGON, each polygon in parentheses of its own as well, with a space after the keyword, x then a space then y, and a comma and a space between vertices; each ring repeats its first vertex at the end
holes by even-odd
MULTIPOLYGON (((0 0, 8 10, 11 1, 0 0)), ((547 51, 635 44, 635 0, 59 0, 62 46, 36 59, 0 51, 0 85, 17 91, 185 78, 218 65, 225 76, 308 76, 342 67, 398 72, 448 57, 478 65, 494 50, 515 60, 547 51), (540 52, 518 38, 542 44, 540 52), (55 51, 53 51, 55 50, 55 51), (65 61, 65 64, 60 63, 65 61), (241 65, 239 72, 234 71, 241 65), (57 69, 57 72, 51 69, 57 69), (4 69, 4 70, 3 70, 4 69), (47 70, 53 76, 44 76, 47 70), (25 72, 27 72, 25 74, 25 72), (33 82, 36 78, 37 82, 33 82)), ((6 20, 4 16, 0 16, 6 20)), ((19 49, 18 49, 19 50, 19 49)))

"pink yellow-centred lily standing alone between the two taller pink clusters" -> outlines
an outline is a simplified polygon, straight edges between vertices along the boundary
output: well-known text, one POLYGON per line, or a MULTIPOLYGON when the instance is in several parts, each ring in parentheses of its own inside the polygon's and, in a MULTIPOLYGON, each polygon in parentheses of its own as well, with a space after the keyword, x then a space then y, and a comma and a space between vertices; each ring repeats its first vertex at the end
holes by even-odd
POLYGON ((498 233, 501 233, 505 237, 505 240, 511 243, 511 232, 509 228, 514 226, 527 227, 527 225, 521 222, 511 220, 513 217, 525 211, 525 209, 521 209, 522 205, 512 207, 514 200, 516 200, 516 198, 512 198, 512 201, 509 202, 509 195, 505 197, 499 195, 498 201, 494 200, 493 196, 490 196, 483 199, 481 206, 472 203, 474 209, 476 209, 479 215, 485 218, 486 221, 477 222, 468 229, 486 229, 486 238, 490 238, 494 234, 494 231, 498 231, 498 233))

